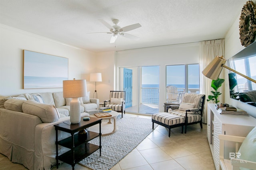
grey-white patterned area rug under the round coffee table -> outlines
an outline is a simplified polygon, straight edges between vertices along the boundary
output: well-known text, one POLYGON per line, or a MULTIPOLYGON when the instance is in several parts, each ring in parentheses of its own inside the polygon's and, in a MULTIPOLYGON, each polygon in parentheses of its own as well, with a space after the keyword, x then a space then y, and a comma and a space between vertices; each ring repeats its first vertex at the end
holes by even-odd
MULTIPOLYGON (((109 170, 152 132, 151 119, 124 115, 123 118, 117 117, 116 123, 118 131, 101 137, 101 156, 97 150, 80 164, 94 170, 109 170)), ((90 143, 98 145, 99 137, 90 143)))

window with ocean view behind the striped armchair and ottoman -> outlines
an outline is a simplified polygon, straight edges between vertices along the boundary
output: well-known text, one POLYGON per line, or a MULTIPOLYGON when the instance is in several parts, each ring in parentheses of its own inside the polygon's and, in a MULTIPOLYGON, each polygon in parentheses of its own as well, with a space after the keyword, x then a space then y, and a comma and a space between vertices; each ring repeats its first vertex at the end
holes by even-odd
POLYGON ((178 92, 199 93, 199 64, 166 66, 166 86, 176 86, 178 92))

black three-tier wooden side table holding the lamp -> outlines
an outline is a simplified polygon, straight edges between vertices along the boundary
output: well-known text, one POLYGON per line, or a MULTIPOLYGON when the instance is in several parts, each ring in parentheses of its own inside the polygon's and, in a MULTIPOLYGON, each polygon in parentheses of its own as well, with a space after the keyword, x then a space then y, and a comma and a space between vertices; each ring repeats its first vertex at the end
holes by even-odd
POLYGON ((101 156, 101 121, 100 118, 90 117, 89 121, 83 121, 81 118, 80 123, 71 124, 70 121, 65 121, 59 124, 54 125, 56 130, 56 166, 58 169, 58 160, 66 162, 67 164, 72 165, 72 170, 74 170, 75 164, 100 149, 101 156), (78 132, 96 125, 99 123, 100 131, 99 133, 87 131, 87 139, 79 140, 78 132), (71 134, 71 137, 58 141, 58 131, 64 131, 71 134), (100 137, 99 145, 94 145, 88 143, 92 139, 100 137), (67 152, 58 155, 58 145, 66 147, 70 150, 67 152))

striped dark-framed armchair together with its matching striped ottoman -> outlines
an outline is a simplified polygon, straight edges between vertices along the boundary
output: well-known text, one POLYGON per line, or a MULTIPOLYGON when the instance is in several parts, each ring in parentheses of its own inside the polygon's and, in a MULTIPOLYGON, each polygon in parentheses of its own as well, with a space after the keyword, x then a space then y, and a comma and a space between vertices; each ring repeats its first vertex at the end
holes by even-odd
POLYGON ((204 94, 186 93, 179 106, 167 106, 166 112, 152 115, 152 128, 154 129, 154 123, 167 127, 169 129, 169 137, 170 130, 174 127, 181 126, 181 133, 183 133, 184 126, 186 133, 187 125, 195 123, 200 123, 200 127, 203 128, 202 114, 204 111, 204 102, 204 94))

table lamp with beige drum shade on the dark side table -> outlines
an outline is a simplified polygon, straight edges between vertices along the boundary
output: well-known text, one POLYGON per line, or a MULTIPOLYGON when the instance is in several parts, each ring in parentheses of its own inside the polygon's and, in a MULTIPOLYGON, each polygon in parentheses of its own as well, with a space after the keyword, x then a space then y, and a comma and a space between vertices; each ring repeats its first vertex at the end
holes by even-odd
POLYGON ((86 80, 63 80, 63 97, 72 98, 70 102, 70 122, 80 123, 81 104, 78 98, 87 95, 86 80))

